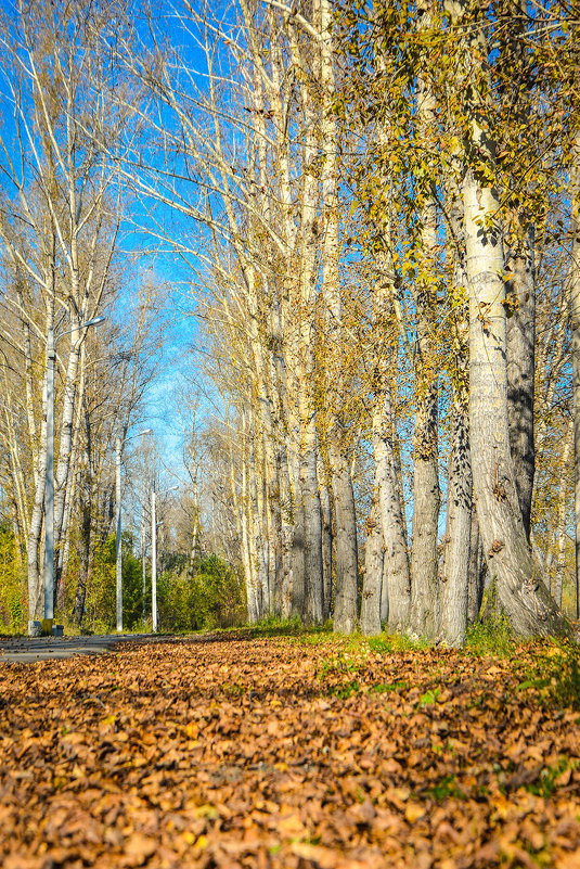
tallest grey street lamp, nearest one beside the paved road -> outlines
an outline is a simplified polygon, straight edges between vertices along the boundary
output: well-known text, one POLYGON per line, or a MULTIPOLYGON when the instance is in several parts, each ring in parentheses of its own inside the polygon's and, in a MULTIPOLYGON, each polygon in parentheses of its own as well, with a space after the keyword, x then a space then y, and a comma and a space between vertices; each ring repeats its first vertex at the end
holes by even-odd
POLYGON ((93 317, 92 320, 54 335, 52 327, 47 335, 47 447, 44 477, 44 629, 52 630, 54 618, 54 360, 56 343, 63 335, 69 335, 91 325, 99 325, 106 317, 93 317))

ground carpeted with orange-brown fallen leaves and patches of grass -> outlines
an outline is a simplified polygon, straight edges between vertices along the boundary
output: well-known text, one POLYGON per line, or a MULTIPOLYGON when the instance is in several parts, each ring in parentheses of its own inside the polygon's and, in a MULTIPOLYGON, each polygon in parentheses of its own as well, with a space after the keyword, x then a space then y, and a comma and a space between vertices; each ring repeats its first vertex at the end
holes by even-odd
POLYGON ((578 652, 250 631, 0 667, 3 869, 580 869, 578 652))

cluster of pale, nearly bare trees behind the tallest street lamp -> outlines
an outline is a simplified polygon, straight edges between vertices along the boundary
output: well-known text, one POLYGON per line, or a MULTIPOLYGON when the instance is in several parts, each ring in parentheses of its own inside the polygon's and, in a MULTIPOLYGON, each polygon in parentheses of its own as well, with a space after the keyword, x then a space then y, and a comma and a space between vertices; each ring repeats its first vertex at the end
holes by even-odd
MULTIPOLYGON (((106 15, 108 23, 109 15, 106 15)), ((120 144, 102 13, 80 3, 17 5, 0 21, 4 123, 0 208, 0 395, 4 513, 27 576, 28 616, 44 612, 48 355, 54 345, 54 595, 69 575, 82 617, 96 541, 111 531, 113 444, 151 380, 155 293, 119 318, 119 168, 98 140, 120 144), (67 23, 66 23, 67 22, 67 23), (100 331, 83 324, 107 318, 100 331), (69 572, 70 573, 70 572, 69 572)))

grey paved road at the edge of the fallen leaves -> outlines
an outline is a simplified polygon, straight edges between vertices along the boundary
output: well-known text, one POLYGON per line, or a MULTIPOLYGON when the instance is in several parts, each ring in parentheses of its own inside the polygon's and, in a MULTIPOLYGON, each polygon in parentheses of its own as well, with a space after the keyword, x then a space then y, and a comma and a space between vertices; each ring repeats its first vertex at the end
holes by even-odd
POLYGON ((98 655, 123 643, 167 642, 175 637, 157 634, 105 634, 93 637, 0 637, 0 665, 56 661, 73 655, 98 655))

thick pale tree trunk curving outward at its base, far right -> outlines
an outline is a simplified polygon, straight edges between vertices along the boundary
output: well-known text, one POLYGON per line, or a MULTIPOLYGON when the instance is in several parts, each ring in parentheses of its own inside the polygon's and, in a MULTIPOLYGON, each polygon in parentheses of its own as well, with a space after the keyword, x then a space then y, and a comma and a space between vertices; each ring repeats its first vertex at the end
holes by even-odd
POLYGON ((482 22, 472 29, 467 52, 471 140, 463 199, 469 283, 469 423, 479 527, 500 602, 516 632, 568 634, 570 628, 531 557, 510 445, 503 244, 498 193, 488 180, 493 178, 494 143, 480 92, 482 59, 488 54, 482 22))

